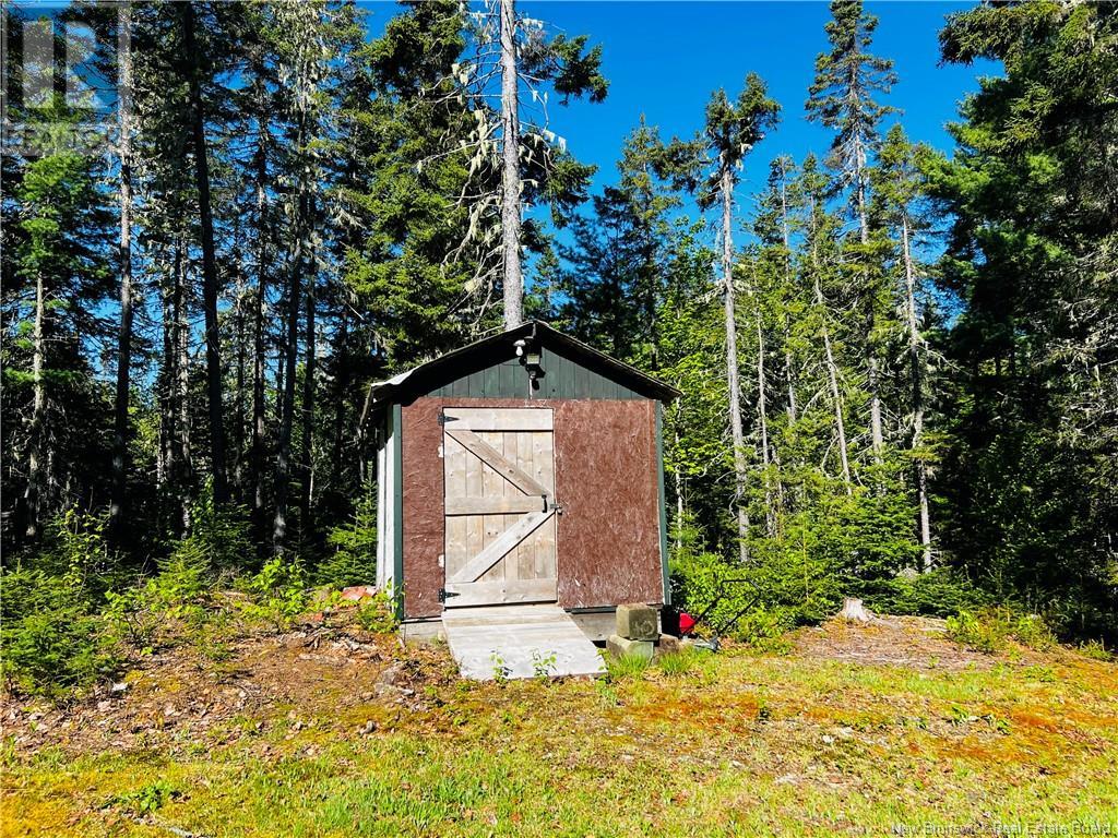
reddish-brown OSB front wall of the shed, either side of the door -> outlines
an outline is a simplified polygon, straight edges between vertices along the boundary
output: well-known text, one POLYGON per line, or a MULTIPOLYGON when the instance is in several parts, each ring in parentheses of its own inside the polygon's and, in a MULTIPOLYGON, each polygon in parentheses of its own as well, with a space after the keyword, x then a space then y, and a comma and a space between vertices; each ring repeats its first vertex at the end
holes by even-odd
POLYGON ((444 406, 556 411, 559 604, 660 602, 656 402, 651 400, 421 398, 402 409, 404 610, 442 613, 444 406))

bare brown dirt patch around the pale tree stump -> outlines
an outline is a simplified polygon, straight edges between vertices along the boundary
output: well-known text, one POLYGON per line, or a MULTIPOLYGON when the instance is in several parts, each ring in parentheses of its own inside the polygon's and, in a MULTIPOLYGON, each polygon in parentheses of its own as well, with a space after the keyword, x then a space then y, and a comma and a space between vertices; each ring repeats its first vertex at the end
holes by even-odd
MULTIPOLYGON (((959 646, 947 637, 946 620, 931 617, 874 616, 869 622, 849 622, 833 617, 822 626, 794 631, 790 639, 794 654, 799 657, 870 666, 988 669, 1001 659, 959 646)), ((1023 659, 1030 655, 1027 650, 1022 653, 1023 659)))

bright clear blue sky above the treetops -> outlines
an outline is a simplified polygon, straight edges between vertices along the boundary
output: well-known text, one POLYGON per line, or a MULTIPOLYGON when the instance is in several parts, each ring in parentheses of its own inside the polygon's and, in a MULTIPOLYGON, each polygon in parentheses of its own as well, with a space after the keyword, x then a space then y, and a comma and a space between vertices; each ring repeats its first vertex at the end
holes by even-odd
MULTIPOLYGON (((944 16, 974 3, 868 3, 880 19, 874 51, 892 58, 900 77, 889 104, 901 108, 909 136, 950 151, 945 123, 977 88, 976 68, 938 66, 937 34, 944 16)), ((824 152, 828 133, 804 118, 815 56, 826 49, 825 2, 561 2, 524 0, 524 13, 568 35, 603 46, 610 82, 601 104, 552 107, 551 127, 577 158, 598 164, 598 183, 616 177, 622 141, 644 114, 666 137, 701 126, 712 91, 732 97, 755 70, 781 104, 780 126, 747 160, 745 189, 764 182, 778 154, 803 159, 824 152)), ((983 72, 989 73, 991 67, 983 72)))

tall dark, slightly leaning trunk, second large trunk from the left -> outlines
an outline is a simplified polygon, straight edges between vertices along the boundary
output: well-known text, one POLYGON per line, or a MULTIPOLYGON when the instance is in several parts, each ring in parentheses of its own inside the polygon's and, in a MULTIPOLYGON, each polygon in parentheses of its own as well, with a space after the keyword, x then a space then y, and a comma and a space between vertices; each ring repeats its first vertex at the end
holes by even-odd
POLYGON ((214 215, 210 207, 209 160, 206 115, 202 112, 200 57, 195 38, 192 3, 182 3, 183 45, 191 60, 189 79, 191 134, 195 147, 195 184, 198 189, 198 219, 202 248, 202 311, 206 315, 206 392, 209 400, 210 460, 214 503, 228 498, 225 478, 225 425, 221 406, 221 340, 217 322, 217 257, 214 250, 214 215))

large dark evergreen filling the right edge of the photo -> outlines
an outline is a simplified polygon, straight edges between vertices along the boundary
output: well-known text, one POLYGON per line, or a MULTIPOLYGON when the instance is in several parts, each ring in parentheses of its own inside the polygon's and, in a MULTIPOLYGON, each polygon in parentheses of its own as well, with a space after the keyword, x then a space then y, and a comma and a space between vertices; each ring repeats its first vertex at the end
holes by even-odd
POLYGON ((944 58, 1002 61, 929 164, 960 298, 954 441, 939 482, 954 561, 1071 631, 1118 626, 1118 9, 951 16, 944 58))

